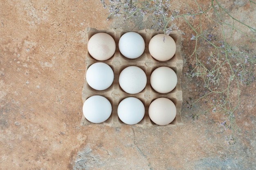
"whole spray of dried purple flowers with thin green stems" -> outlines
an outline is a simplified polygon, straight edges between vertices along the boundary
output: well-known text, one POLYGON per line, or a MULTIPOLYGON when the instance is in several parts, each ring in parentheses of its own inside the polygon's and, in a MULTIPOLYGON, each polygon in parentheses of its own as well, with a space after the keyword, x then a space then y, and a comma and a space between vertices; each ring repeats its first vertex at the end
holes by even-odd
MULTIPOLYGON (((189 98, 189 101, 186 101, 187 106, 192 109, 199 100, 210 105, 206 111, 194 113, 191 117, 198 119, 200 115, 206 113, 218 113, 225 116, 225 121, 221 125, 225 130, 231 131, 230 137, 225 137, 225 140, 227 144, 235 144, 234 133, 236 130, 239 131, 235 113, 240 105, 240 85, 249 85, 255 82, 256 52, 250 46, 254 46, 252 43, 256 42, 256 29, 229 14, 218 0, 210 0, 207 9, 202 9, 195 0, 197 9, 185 7, 186 13, 183 14, 172 9, 169 0, 109 0, 108 4, 101 0, 101 3, 103 8, 108 7, 109 9, 108 19, 112 16, 122 15, 125 21, 138 15, 150 16, 149 18, 153 18, 151 28, 162 30, 167 35, 173 29, 179 29, 174 22, 180 18, 185 21, 193 31, 190 38, 191 44, 195 44, 194 51, 191 52, 195 63, 191 64, 190 72, 185 75, 200 79, 204 87, 199 98, 189 98), (213 13, 213 15, 209 15, 209 13, 213 13), (202 18, 207 18, 216 24, 216 28, 219 29, 217 35, 213 35, 210 30, 202 30, 202 24, 204 24, 201 22, 202 18), (195 24, 197 22, 199 22, 198 25, 195 24), (244 28, 249 29, 249 32, 243 31, 244 28), (229 31, 230 34, 225 34, 229 31), (233 43, 228 41, 232 39, 234 31, 244 35, 252 43, 248 44, 246 48, 235 50, 232 46, 233 43), (199 48, 207 48, 209 54, 199 54, 199 48), (231 93, 233 89, 236 89, 236 93, 231 93), (231 100, 231 98, 236 98, 236 100, 231 100)), ((255 4, 252 0, 249 0, 249 3, 255 4)))

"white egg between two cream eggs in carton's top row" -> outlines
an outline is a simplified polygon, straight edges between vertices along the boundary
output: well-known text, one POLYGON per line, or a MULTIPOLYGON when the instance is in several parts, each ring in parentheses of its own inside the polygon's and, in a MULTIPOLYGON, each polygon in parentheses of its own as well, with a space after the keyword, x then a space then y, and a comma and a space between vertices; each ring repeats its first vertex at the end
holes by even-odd
POLYGON ((145 41, 135 32, 128 32, 121 36, 118 43, 119 51, 128 59, 136 59, 145 50, 145 41))

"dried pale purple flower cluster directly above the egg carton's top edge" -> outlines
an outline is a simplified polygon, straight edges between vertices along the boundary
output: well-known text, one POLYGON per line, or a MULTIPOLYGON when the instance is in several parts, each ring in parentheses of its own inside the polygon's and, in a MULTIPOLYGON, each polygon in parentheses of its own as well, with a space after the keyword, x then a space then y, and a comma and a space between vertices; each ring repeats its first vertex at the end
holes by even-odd
POLYGON ((100 0, 103 4, 103 8, 109 9, 109 15, 107 20, 112 16, 119 17, 122 15, 124 22, 130 17, 136 17, 137 15, 151 16, 152 26, 151 29, 158 31, 162 30, 169 35, 174 29, 179 28, 175 23, 171 21, 175 20, 175 17, 170 11, 170 0, 109 0, 108 4, 105 0, 100 0))

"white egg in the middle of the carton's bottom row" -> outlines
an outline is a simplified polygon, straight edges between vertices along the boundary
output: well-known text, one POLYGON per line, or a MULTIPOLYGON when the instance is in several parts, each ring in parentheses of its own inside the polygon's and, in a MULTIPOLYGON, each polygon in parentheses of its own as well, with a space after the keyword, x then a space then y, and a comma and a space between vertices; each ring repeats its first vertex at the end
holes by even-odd
POLYGON ((119 103, 117 114, 122 122, 137 124, 144 118, 145 107, 138 98, 128 97, 119 103))

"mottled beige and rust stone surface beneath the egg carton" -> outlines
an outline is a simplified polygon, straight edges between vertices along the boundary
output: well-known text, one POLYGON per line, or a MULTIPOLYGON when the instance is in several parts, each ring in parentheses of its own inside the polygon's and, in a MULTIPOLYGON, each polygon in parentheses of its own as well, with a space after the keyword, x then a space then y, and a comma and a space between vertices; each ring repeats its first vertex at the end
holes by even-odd
MULTIPOLYGON (((255 4, 220 2, 238 20, 255 28, 255 4)), ((205 9, 210 5, 203 0, 198 3, 205 9)), ((81 126, 86 27, 133 31, 150 28, 151 20, 138 16, 126 23, 121 17, 107 21, 108 10, 98 0, 0 0, 0 4, 1 170, 255 168, 255 81, 249 86, 240 85, 236 144, 225 141, 230 131, 221 126, 225 118, 222 114, 210 111, 193 120, 193 113, 209 105, 200 101, 192 109, 187 107, 186 101, 198 97, 204 88, 199 79, 186 76, 195 59, 191 56, 193 31, 184 21, 176 21, 182 31, 184 59, 183 125, 81 126)), ((193 0, 173 0, 172 5, 181 13, 197 7, 193 0)), ((204 31, 220 31, 207 18, 201 22, 205 23, 204 31)), ((234 46, 245 43, 240 33, 234 32, 233 38, 234 46)), ((207 50, 201 47, 198 54, 206 55, 207 50)))

